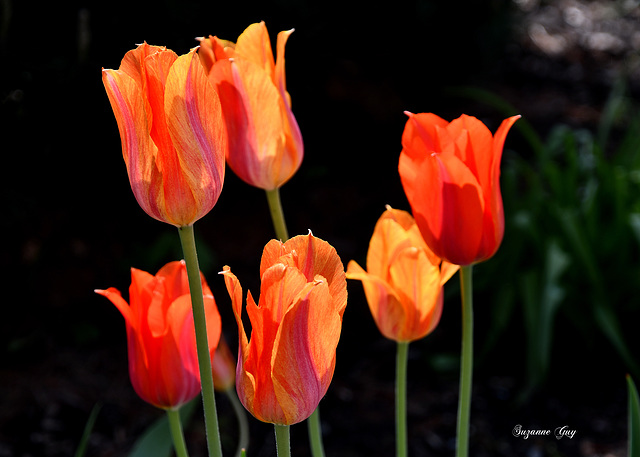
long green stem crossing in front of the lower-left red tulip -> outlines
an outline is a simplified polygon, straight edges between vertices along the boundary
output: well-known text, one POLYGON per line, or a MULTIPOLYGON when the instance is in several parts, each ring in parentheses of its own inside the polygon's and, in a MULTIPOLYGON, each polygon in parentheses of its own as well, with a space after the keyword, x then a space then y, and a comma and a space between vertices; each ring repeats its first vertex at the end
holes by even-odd
POLYGON ((198 365, 200 367, 200 382, 202 384, 202 404, 204 407, 204 425, 207 433, 209 457, 222 457, 222 443, 218 428, 218 414, 216 412, 216 398, 213 391, 213 374, 211 371, 211 356, 207 341, 207 323, 204 312, 204 296, 200 281, 200 266, 196 252, 196 241, 193 225, 178 228, 184 261, 187 265, 189 277, 189 291, 193 308, 193 321, 196 328, 196 345, 198 350, 198 365))

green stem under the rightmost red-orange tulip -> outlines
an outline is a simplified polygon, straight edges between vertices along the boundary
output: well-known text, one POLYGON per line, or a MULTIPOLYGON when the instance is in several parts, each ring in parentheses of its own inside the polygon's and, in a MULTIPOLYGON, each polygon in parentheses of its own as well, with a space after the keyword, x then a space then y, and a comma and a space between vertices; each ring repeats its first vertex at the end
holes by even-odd
POLYGON ((458 400, 458 430, 456 456, 469 455, 469 416, 473 376, 473 279, 472 266, 460 267, 462 293, 462 357, 460 360, 460 398, 458 400))

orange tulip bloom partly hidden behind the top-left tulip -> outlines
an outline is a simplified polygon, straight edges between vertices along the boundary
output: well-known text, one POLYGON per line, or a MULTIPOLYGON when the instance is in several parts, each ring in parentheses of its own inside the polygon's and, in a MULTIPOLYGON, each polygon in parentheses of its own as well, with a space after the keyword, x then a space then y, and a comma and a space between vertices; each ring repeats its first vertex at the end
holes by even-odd
POLYGON ((264 22, 247 27, 237 44, 203 38, 198 51, 224 108, 227 163, 243 181, 265 190, 282 186, 302 163, 302 135, 284 72, 292 32, 278 34, 275 62, 264 22))

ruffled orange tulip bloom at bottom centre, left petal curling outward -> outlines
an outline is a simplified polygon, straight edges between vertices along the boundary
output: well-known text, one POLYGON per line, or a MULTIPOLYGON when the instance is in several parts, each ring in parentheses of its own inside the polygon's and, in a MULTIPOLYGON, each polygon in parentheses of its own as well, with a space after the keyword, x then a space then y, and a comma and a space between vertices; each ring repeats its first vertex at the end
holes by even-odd
POLYGON ((271 240, 260 264, 260 300, 251 292, 242 323, 242 287, 229 267, 225 284, 240 336, 236 388, 257 419, 290 425, 307 419, 327 392, 347 306, 344 266, 336 250, 311 233, 271 240))

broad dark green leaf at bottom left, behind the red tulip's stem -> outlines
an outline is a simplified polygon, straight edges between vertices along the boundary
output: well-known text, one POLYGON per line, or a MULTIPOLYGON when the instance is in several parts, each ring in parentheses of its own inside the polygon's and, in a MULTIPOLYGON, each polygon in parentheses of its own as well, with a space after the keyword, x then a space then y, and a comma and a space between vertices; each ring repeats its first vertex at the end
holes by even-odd
MULTIPOLYGON (((200 395, 198 395, 180 408, 180 420, 184 428, 190 422, 200 400, 200 395)), ((173 440, 171 439, 171 430, 169 430, 169 420, 165 414, 136 440, 129 457, 170 457, 172 452, 173 440)))

